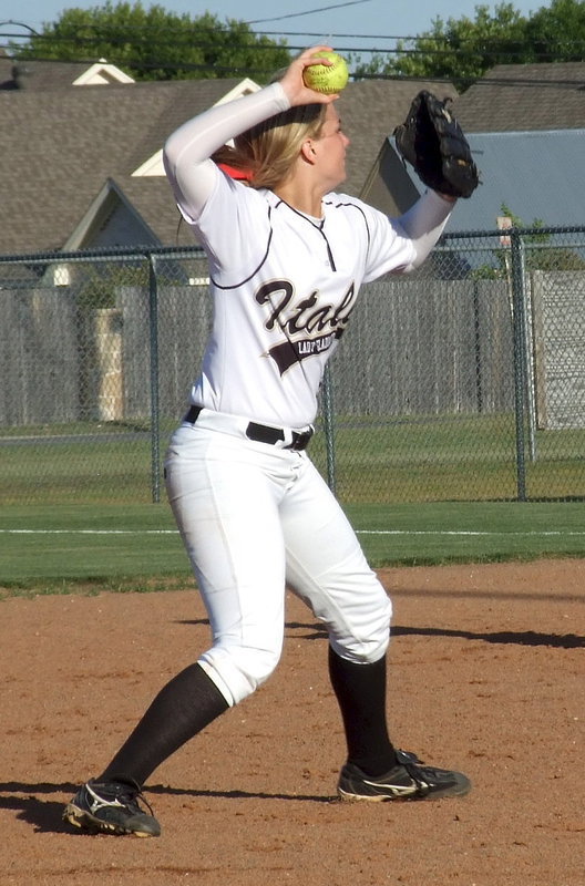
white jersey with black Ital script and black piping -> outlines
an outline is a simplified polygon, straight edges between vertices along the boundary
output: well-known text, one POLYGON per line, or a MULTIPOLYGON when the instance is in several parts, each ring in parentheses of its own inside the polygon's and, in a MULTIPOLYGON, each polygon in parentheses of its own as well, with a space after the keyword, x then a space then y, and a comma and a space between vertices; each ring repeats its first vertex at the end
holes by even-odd
MULTIPOLYGON (((261 92, 275 93, 277 87, 261 92)), ((257 105, 260 97, 232 104, 257 105)), ((275 104, 271 113, 277 110, 281 107, 275 104)), ((229 106, 213 109, 212 114, 223 122, 229 106)), ((199 142, 204 141, 197 119, 194 124, 199 142)), ((202 169, 203 206, 193 205, 185 196, 188 187, 177 183, 189 172, 184 159, 192 150, 189 125, 179 131, 184 144, 176 152, 183 168, 177 162, 175 172, 167 163, 167 175, 207 254, 214 299, 213 331, 192 403, 266 424, 305 427, 315 419, 326 362, 348 324, 361 284, 412 268, 420 259, 417 246, 400 220, 357 198, 329 194, 322 217, 312 218, 266 188, 233 181, 209 161, 202 169)), ((218 143, 206 146, 207 156, 225 135, 224 127, 218 143)), ((427 197, 432 224, 428 218, 421 230, 425 235, 438 219, 442 229, 451 208, 438 195, 427 197)), ((433 243, 439 233, 433 233, 433 243)))

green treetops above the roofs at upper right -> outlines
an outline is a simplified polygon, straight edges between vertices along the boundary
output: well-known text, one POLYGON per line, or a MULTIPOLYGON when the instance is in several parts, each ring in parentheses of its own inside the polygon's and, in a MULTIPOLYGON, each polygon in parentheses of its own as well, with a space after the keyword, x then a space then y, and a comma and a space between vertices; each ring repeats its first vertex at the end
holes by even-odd
POLYGON ((437 18, 432 30, 397 43, 396 58, 373 55, 357 73, 450 80, 466 89, 496 64, 583 61, 585 58, 585 3, 552 0, 531 18, 512 3, 500 3, 494 13, 475 7, 475 20, 437 18))

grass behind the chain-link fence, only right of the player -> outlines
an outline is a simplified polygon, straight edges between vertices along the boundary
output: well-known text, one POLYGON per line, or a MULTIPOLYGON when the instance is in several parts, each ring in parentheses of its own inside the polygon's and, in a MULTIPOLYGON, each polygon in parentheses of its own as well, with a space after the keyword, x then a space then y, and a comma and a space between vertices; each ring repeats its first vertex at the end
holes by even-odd
MULTIPOLYGON (((320 435, 311 452, 325 464, 320 435)), ((528 499, 585 498, 585 431, 538 431, 525 441, 528 499)), ((517 497, 514 416, 450 415, 345 426, 336 432, 340 501, 505 501, 517 497)))

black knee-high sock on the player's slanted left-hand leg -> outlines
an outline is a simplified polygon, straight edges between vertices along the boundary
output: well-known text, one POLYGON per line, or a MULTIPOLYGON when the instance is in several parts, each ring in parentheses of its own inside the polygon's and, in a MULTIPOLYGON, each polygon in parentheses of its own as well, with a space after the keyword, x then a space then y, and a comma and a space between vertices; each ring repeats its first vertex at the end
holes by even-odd
POLYGON ((98 781, 136 782, 228 708, 199 664, 189 664, 158 692, 98 781))

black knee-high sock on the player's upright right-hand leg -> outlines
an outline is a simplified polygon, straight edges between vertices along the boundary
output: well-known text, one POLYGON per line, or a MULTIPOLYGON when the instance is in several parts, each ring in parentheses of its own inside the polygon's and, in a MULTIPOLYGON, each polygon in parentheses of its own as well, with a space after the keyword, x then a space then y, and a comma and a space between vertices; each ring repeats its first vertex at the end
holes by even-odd
POLYGON ((386 656, 373 664, 356 664, 329 647, 329 676, 346 731, 348 762, 368 775, 397 765, 386 722, 386 656))

